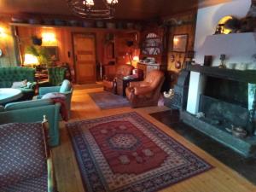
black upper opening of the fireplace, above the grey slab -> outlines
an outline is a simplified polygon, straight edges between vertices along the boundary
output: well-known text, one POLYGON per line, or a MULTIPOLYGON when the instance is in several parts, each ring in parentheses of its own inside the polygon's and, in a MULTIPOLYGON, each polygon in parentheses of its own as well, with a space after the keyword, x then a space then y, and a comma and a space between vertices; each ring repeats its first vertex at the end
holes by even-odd
POLYGON ((207 77, 204 95, 247 108, 248 85, 244 82, 207 77))

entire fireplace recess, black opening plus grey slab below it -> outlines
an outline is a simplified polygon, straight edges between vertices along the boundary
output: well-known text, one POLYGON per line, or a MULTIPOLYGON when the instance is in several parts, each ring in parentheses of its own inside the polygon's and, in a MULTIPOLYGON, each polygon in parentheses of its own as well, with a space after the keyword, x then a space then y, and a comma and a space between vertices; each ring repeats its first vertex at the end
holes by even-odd
POLYGON ((207 77, 200 98, 199 111, 205 113, 208 123, 223 129, 232 125, 247 129, 247 83, 207 77))

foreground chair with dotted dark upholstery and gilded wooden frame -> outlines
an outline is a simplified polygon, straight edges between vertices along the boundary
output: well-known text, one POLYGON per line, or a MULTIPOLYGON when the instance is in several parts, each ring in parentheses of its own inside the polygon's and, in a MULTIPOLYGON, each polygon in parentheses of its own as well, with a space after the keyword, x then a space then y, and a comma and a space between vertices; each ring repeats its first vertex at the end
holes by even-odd
POLYGON ((41 123, 0 125, 0 191, 55 192, 52 159, 41 123))

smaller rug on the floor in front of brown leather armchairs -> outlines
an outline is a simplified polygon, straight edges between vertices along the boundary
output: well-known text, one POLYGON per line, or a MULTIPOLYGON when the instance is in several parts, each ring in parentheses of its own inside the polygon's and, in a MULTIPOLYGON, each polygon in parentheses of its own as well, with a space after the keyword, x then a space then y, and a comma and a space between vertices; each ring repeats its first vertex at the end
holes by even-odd
POLYGON ((129 101, 125 97, 114 95, 108 91, 88 94, 93 99, 93 101, 96 102, 96 105, 101 109, 123 108, 130 106, 129 101))

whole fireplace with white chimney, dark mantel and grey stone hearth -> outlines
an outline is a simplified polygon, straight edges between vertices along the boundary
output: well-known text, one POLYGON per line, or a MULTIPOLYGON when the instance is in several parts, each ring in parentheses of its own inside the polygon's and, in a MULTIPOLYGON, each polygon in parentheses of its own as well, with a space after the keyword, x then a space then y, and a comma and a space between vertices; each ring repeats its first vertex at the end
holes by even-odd
POLYGON ((255 113, 250 112, 255 102, 248 91, 256 84, 256 32, 212 34, 221 18, 245 18, 251 5, 251 0, 236 0, 198 9, 194 50, 195 62, 201 66, 188 67, 188 102, 181 112, 185 123, 246 156, 256 155, 255 113), (211 67, 202 66, 206 55, 212 56, 211 67), (230 69, 218 68, 220 55, 226 55, 224 64, 230 69), (195 117, 200 111, 206 118, 195 117), (232 136, 225 129, 230 125, 247 129, 249 137, 232 136))

